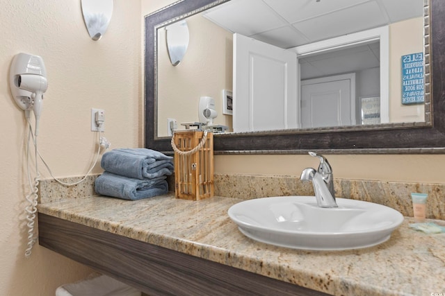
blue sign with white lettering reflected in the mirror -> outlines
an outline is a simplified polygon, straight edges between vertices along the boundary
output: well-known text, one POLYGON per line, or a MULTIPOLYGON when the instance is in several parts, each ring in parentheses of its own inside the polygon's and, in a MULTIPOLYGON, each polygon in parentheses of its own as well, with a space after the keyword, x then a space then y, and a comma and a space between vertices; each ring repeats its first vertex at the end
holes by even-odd
POLYGON ((402 104, 424 102, 423 53, 402 55, 402 104))

